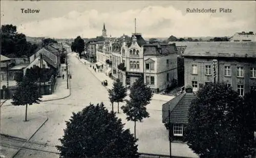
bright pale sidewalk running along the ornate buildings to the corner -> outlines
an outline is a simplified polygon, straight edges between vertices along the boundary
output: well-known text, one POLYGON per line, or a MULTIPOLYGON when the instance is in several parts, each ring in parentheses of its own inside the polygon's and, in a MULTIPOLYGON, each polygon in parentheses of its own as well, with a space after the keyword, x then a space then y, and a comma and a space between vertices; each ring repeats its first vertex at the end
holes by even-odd
MULTIPOLYGON (((108 81, 108 86, 105 86, 106 88, 108 89, 111 89, 112 86, 113 86, 113 83, 114 83, 114 80, 112 80, 109 76, 106 76, 104 73, 100 73, 100 72, 95 72, 93 70, 93 66, 95 67, 96 64, 94 63, 91 63, 89 62, 88 60, 86 59, 79 59, 82 63, 86 62, 86 64, 90 64, 92 65, 92 67, 87 67, 91 73, 100 81, 100 84, 101 84, 101 81, 103 80, 107 80, 108 81)), ((127 95, 130 94, 130 90, 127 91, 127 95)), ((167 96, 167 95, 161 95, 161 94, 154 94, 153 97, 152 97, 152 100, 160 100, 160 101, 169 101, 171 99, 175 98, 174 96, 167 96)))

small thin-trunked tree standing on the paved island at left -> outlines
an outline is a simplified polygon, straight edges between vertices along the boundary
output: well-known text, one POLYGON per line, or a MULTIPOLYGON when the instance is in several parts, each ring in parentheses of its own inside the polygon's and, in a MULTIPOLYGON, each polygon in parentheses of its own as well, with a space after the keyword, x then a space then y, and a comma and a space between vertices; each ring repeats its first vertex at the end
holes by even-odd
POLYGON ((33 103, 39 104, 39 101, 41 101, 39 98, 41 98, 41 95, 38 92, 37 85, 25 77, 22 82, 18 83, 18 87, 12 98, 12 104, 26 105, 25 121, 27 121, 28 105, 32 105, 33 103))

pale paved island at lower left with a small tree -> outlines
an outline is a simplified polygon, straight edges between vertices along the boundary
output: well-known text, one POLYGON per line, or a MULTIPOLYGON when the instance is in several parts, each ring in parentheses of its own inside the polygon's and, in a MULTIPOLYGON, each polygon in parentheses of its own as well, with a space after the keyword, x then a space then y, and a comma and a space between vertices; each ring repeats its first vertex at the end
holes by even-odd
POLYGON ((46 116, 28 115, 1 116, 1 134, 21 139, 30 139, 47 121, 46 116))

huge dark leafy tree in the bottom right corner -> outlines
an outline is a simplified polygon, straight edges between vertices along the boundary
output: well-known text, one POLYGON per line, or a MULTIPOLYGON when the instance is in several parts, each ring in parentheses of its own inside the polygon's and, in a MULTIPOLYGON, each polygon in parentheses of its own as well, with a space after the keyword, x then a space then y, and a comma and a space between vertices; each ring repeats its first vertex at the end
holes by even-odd
POLYGON ((225 83, 202 87, 189 107, 184 136, 200 157, 245 157, 251 153, 253 115, 225 83))

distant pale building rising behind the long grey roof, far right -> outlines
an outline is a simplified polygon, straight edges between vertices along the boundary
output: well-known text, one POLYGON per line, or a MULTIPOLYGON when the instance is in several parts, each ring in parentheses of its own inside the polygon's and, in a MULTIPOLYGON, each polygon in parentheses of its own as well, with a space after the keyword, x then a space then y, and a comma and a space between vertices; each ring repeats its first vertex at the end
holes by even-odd
POLYGON ((256 41, 256 34, 253 32, 237 32, 230 39, 230 41, 256 41))

